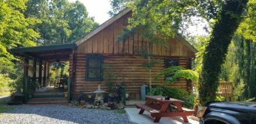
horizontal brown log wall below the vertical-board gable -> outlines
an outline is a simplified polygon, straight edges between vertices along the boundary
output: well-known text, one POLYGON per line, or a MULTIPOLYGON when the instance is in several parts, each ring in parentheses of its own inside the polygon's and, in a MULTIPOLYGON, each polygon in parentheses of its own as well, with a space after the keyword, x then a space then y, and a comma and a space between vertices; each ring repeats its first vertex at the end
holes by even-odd
MULTIPOLYGON (((86 72, 86 55, 79 53, 76 55, 76 75, 75 75, 75 89, 74 94, 79 92, 93 92, 98 88, 98 84, 101 85, 101 89, 108 91, 107 81, 85 81, 86 72)), ((148 70, 142 67, 142 63, 145 63, 146 59, 141 59, 137 55, 115 55, 115 54, 103 54, 104 64, 109 64, 111 68, 114 68, 114 73, 117 78, 113 79, 117 84, 126 85, 126 92, 130 93, 129 96, 132 99, 140 99, 140 86, 148 85, 149 75, 148 70)), ((155 59, 162 60, 161 63, 156 64, 152 70, 152 79, 165 68, 165 56, 157 56, 155 59)), ((170 58, 170 57, 168 57, 170 58)), ((175 57, 177 58, 177 57, 175 57)), ((178 57, 180 66, 187 67, 187 57, 178 57)), ((104 70, 106 71, 106 70, 104 70)), ((152 80, 152 85, 163 85, 163 78, 160 80, 152 80)), ((180 79, 179 82, 170 84, 169 87, 181 88, 187 90, 187 80, 180 79)))

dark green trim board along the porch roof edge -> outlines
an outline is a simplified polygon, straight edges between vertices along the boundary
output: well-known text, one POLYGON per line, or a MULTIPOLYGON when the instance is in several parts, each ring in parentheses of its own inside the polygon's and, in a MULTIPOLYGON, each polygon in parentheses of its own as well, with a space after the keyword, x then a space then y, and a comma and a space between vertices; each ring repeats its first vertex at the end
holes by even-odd
POLYGON ((21 48, 12 48, 9 49, 10 53, 25 53, 25 52, 40 52, 40 51, 51 51, 58 49, 67 49, 67 48, 75 48, 77 45, 75 43, 72 44, 57 44, 57 45, 47 45, 47 46, 34 46, 34 47, 21 47, 21 48))

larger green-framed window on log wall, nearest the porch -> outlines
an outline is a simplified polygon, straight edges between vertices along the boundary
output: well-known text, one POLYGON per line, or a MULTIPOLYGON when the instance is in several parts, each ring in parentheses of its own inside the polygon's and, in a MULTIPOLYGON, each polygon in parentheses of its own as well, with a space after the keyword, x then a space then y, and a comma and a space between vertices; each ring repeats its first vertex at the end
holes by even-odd
POLYGON ((86 56, 85 80, 102 81, 103 80, 102 63, 103 63, 102 55, 86 56))

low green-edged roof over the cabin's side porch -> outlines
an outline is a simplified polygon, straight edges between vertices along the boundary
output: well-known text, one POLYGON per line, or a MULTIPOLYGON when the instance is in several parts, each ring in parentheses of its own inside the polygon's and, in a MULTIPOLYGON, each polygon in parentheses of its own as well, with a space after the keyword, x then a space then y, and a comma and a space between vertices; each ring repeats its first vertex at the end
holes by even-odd
MULTIPOLYGON (((47 46, 34 46, 34 47, 20 47, 9 49, 10 53, 18 56, 29 55, 42 59, 44 61, 53 62, 59 59, 60 61, 67 61, 69 54, 73 51, 77 45, 73 44, 58 44, 47 46)), ((32 59, 32 58, 30 58, 32 59)))

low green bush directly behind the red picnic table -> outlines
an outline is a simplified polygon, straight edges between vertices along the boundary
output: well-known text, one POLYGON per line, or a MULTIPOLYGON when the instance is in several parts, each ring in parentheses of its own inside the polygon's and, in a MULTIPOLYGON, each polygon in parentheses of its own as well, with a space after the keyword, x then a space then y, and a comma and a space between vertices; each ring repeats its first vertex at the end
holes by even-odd
POLYGON ((152 88, 148 95, 160 95, 160 96, 170 96, 170 98, 175 98, 177 100, 184 101, 182 107, 193 109, 194 106, 194 94, 189 94, 185 90, 170 88, 170 87, 157 87, 152 88))

